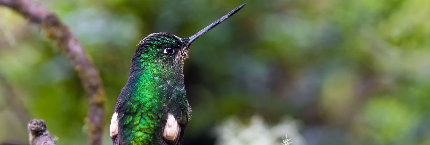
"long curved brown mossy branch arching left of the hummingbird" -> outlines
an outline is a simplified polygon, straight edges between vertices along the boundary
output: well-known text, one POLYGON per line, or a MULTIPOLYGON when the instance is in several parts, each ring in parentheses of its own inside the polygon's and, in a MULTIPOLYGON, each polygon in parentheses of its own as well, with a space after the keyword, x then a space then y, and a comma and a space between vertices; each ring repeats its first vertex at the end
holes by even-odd
POLYGON ((31 0, 0 0, 0 5, 14 9, 31 22, 46 29, 46 37, 55 40, 58 47, 67 54, 68 59, 79 73, 83 88, 89 96, 89 111, 86 118, 89 129, 89 144, 101 145, 104 127, 104 89, 97 69, 87 59, 85 51, 70 28, 54 14, 31 0))

